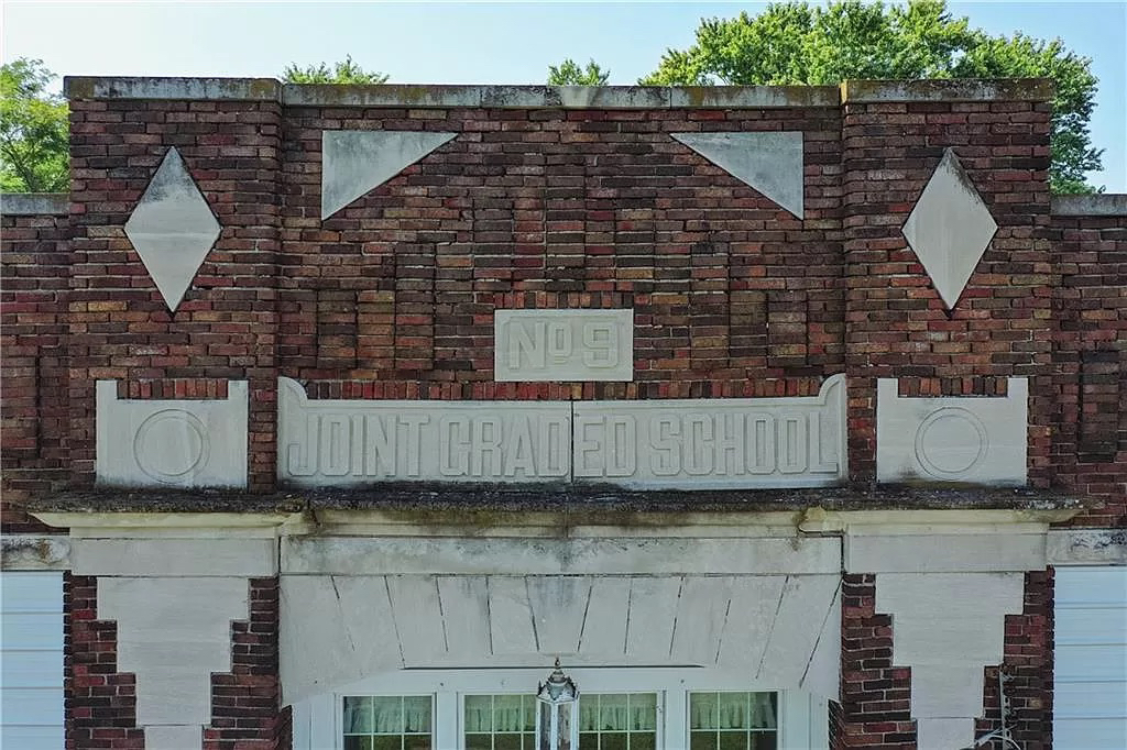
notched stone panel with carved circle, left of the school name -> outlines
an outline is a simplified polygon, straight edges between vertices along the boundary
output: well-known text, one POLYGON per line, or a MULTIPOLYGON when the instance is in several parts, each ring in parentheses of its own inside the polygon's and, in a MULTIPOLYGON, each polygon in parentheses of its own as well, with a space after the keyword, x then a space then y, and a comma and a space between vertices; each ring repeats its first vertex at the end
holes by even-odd
POLYGON ((113 486, 247 485, 245 381, 224 400, 127 400, 115 381, 98 381, 99 484, 113 486))

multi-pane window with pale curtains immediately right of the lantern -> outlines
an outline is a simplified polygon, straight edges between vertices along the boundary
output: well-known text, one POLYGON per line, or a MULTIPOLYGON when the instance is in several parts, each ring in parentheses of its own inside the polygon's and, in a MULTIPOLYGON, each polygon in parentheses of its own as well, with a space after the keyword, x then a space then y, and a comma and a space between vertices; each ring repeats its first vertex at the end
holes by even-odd
POLYGON ((656 693, 579 696, 579 750, 656 750, 656 693))

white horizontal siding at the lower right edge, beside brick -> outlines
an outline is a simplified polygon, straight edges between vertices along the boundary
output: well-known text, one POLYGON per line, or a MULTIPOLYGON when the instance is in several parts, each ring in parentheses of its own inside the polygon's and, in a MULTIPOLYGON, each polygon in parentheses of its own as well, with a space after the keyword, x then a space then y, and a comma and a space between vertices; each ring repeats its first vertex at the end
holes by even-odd
POLYGON ((1053 747, 1127 748, 1127 568, 1057 568, 1053 747))

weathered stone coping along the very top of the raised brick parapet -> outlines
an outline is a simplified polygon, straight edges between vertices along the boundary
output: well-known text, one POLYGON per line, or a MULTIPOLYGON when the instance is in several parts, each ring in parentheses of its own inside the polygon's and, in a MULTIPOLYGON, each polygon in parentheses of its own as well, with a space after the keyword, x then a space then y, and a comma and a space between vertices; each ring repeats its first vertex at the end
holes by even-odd
POLYGON ((66 77, 69 99, 274 101, 293 107, 491 107, 552 109, 748 109, 837 107, 848 102, 1036 100, 1045 79, 846 81, 836 86, 336 86, 273 78, 66 77))

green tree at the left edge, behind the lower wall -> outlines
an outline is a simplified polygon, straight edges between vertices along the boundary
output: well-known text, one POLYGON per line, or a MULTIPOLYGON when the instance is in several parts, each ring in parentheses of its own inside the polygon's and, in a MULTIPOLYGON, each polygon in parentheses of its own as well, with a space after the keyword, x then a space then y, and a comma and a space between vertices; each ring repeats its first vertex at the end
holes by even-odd
POLYGON ((66 101, 47 90, 42 60, 0 65, 0 189, 60 193, 70 187, 66 101))

